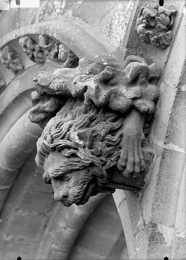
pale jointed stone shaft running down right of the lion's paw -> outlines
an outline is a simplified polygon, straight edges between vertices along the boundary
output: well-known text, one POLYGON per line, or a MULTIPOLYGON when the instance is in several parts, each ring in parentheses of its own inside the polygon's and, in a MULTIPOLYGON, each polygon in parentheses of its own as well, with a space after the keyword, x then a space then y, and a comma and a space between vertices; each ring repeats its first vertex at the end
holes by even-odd
MULTIPOLYGON (((185 2, 173 3, 180 9, 172 48, 156 48, 155 52, 154 46, 146 45, 142 52, 144 56, 164 60, 165 66, 150 133, 150 143, 157 151, 151 178, 145 189, 136 194, 124 190, 113 194, 129 257, 136 260, 185 259, 185 2)), ((134 36, 129 34, 127 52, 139 55, 142 45, 139 42, 139 48, 133 49, 137 46, 134 36)))

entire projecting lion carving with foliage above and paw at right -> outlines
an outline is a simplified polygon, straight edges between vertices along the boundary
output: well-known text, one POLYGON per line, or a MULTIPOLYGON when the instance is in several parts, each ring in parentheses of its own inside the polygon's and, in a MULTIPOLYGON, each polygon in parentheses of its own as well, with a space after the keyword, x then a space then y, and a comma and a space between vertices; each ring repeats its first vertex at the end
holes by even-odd
POLYGON ((44 128, 35 161, 56 201, 81 205, 99 192, 144 185, 153 153, 142 144, 160 76, 156 63, 134 55, 35 75, 29 119, 44 128))

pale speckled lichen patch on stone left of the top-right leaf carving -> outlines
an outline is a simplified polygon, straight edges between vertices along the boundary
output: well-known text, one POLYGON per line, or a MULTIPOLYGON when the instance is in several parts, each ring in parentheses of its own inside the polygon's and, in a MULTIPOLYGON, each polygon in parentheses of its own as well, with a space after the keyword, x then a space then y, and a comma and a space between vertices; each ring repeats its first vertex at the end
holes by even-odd
POLYGON ((134 6, 133 1, 125 4, 119 4, 117 12, 109 19, 106 35, 119 46, 124 39, 127 24, 134 6))

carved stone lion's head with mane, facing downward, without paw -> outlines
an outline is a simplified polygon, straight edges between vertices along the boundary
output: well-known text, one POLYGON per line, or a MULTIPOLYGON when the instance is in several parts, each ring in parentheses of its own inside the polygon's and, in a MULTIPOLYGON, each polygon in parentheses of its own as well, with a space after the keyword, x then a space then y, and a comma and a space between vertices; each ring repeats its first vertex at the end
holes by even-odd
POLYGON ((98 192, 114 191, 104 185, 106 169, 116 165, 120 154, 122 122, 111 110, 72 99, 49 121, 35 160, 57 201, 79 205, 98 192))

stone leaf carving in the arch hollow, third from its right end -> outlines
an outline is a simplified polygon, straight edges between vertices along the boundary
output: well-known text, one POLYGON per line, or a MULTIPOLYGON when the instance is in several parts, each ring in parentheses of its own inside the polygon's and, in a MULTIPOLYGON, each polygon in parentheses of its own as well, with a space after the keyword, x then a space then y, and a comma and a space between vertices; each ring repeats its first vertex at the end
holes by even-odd
POLYGON ((31 37, 23 36, 19 38, 19 44, 23 51, 28 55, 28 58, 34 62, 44 63, 46 60, 46 54, 43 49, 38 46, 31 37))

